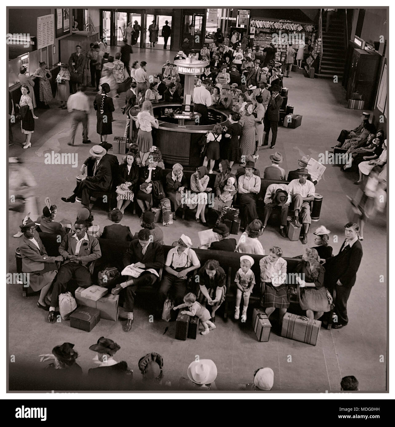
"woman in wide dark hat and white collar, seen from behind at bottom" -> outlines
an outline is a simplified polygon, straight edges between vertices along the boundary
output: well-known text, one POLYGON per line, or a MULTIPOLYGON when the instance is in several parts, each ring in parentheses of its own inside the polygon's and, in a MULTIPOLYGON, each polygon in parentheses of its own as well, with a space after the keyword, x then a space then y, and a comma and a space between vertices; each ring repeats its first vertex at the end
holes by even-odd
POLYGON ((127 369, 126 362, 114 360, 114 355, 120 348, 116 342, 104 336, 89 347, 89 350, 96 352, 93 360, 98 366, 88 370, 88 379, 97 389, 130 389, 133 371, 127 369))

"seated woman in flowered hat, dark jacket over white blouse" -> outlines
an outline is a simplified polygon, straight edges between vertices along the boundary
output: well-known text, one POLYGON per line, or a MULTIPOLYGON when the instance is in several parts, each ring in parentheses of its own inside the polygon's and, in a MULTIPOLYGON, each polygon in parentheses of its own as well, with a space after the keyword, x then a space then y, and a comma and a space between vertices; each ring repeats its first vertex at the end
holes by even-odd
POLYGON ((149 155, 147 158, 148 165, 140 168, 139 189, 137 190, 136 199, 141 211, 149 211, 153 206, 153 182, 162 182, 162 168, 157 167, 159 156, 149 155))

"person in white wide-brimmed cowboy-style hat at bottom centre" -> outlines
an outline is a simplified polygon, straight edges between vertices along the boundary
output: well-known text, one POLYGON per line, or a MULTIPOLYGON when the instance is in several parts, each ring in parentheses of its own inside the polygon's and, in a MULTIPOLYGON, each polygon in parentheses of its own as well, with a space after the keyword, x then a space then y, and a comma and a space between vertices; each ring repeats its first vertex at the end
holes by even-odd
POLYGON ((215 379, 218 372, 211 359, 194 360, 186 373, 188 379, 182 377, 178 382, 180 390, 217 390, 215 379))

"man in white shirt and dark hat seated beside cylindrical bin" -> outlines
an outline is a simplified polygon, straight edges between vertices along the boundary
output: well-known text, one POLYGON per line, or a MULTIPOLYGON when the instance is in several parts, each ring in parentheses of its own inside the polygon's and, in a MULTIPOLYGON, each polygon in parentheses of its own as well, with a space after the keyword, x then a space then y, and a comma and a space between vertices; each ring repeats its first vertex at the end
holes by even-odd
POLYGON ((291 193, 292 202, 294 203, 294 224, 299 227, 302 223, 302 243, 305 245, 307 243, 307 233, 311 224, 309 202, 314 200, 315 187, 311 181, 307 180, 307 175, 309 175, 307 169, 300 169, 298 175, 299 179, 293 179, 288 184, 288 190, 291 193), (299 222, 299 216, 301 222, 299 222))

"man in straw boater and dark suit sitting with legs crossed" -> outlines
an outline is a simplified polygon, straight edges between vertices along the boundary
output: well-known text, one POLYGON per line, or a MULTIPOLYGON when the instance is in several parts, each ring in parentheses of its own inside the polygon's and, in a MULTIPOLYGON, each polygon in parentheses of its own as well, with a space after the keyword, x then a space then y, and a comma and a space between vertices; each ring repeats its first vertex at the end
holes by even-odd
POLYGON ((83 181, 77 184, 70 197, 62 197, 63 202, 82 203, 89 209, 90 193, 92 191, 107 191, 112 184, 111 165, 104 157, 106 150, 100 145, 94 145, 89 153, 95 158, 91 176, 87 176, 83 181))

